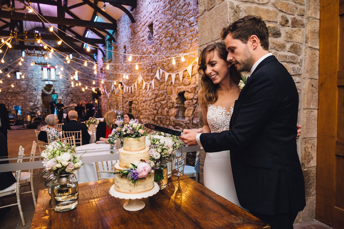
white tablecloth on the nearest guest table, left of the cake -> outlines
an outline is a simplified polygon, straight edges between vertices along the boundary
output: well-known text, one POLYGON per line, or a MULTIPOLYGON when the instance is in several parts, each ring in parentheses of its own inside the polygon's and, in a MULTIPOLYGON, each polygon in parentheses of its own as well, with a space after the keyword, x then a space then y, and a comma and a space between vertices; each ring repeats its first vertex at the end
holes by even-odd
MULTIPOLYGON (((113 156, 114 158, 118 159, 118 151, 117 153, 110 153, 110 144, 87 144, 83 146, 76 147, 77 154, 84 153, 83 158, 92 158, 92 156, 113 156)), ((81 159, 84 162, 84 159, 81 159)), ((93 161, 101 161, 101 160, 93 160, 93 161)), ((114 162, 115 163, 115 162, 114 162)), ((99 162, 99 169, 101 169, 101 163, 99 162)), ((114 174, 107 173, 104 175, 106 177, 114 177, 114 174)), ((76 177, 78 179, 78 183, 90 182, 90 181, 98 181, 97 177, 97 170, 95 162, 92 163, 85 163, 78 169, 76 173, 76 177)))

